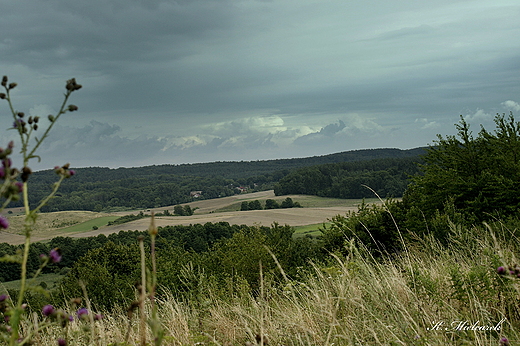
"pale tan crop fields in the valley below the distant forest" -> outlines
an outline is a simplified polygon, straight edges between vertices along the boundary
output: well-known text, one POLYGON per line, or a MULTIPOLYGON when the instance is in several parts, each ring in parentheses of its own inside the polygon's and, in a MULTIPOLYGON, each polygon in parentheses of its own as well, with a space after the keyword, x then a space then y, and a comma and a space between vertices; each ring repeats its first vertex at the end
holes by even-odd
MULTIPOLYGON (((316 225, 326 223, 336 215, 344 215, 349 211, 356 211, 361 203, 361 199, 337 199, 307 195, 275 196, 271 190, 186 203, 192 209, 196 209, 194 215, 158 216, 155 220, 158 227, 205 224, 207 222, 228 222, 229 224, 249 226, 271 226, 273 223, 294 227, 315 225, 313 226, 314 232, 310 229, 302 230, 301 232, 316 234, 318 229, 316 225), (266 199, 274 199, 281 203, 287 197, 292 198, 294 202, 300 203, 303 208, 239 211, 240 204, 243 201, 259 200, 265 202, 266 199)), ((380 201, 370 199, 365 200, 365 203, 380 203, 380 201)), ((119 231, 145 231, 150 225, 150 218, 112 226, 107 226, 107 223, 118 216, 136 214, 140 211, 150 214, 151 212, 162 213, 165 210, 173 213, 173 206, 111 214, 85 211, 42 213, 38 217, 32 239, 33 241, 41 241, 57 236, 79 238, 97 236, 99 234, 108 235, 119 231), (93 226, 96 226, 97 229, 93 229, 93 226)), ((0 232, 0 242, 23 243, 23 216, 10 216, 9 221, 12 225, 9 228, 10 233, 0 232)))

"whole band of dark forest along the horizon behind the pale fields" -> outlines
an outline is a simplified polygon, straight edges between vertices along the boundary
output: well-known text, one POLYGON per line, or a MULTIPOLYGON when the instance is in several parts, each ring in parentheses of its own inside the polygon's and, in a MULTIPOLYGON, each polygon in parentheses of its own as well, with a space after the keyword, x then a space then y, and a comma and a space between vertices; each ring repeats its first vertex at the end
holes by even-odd
MULTIPOLYGON (((366 184, 383 196, 400 196, 408 184, 408 175, 416 172, 412 168, 413 162, 417 162, 424 152, 424 148, 370 149, 300 159, 79 168, 74 177, 63 182, 55 198, 42 211, 162 207, 243 191, 270 190, 278 182, 281 182, 277 188, 279 194, 358 198, 367 194, 366 191, 359 192, 363 190, 361 185, 366 184), (313 168, 305 170, 305 167, 313 168), (316 186, 312 181, 315 172, 332 174, 327 178, 330 180, 328 185, 323 184, 324 179, 320 177, 320 185, 316 186), (299 177, 302 174, 309 177, 299 177), (298 179, 300 182, 295 188, 294 181, 298 179), (301 180, 312 181, 312 184, 304 190, 301 180), (338 189, 338 185, 342 188, 338 189), (202 193, 194 197, 194 191, 202 193)), ((35 205, 46 196, 55 180, 53 170, 33 173, 29 179, 29 203, 35 205)), ((13 202, 11 206, 21 206, 21 201, 13 202)))

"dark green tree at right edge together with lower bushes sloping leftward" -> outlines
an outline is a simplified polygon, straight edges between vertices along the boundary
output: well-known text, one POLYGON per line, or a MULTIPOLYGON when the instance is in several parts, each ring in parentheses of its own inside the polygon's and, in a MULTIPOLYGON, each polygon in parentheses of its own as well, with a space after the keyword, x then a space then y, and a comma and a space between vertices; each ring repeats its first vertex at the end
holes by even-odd
POLYGON ((345 252, 349 239, 382 255, 433 237, 447 244, 456 229, 497 223, 520 236, 520 122, 497 114, 493 132, 475 135, 461 116, 457 134, 438 135, 401 201, 338 215, 323 230, 329 248, 345 252))

